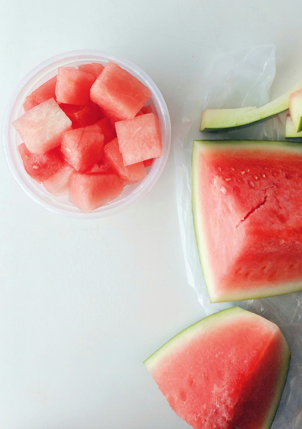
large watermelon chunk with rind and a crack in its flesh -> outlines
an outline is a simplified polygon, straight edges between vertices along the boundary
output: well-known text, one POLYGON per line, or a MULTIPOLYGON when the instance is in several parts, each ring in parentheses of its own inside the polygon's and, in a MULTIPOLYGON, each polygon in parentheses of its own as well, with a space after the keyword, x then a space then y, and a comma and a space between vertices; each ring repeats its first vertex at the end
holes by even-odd
POLYGON ((195 141, 192 207, 211 302, 302 290, 302 146, 195 141))

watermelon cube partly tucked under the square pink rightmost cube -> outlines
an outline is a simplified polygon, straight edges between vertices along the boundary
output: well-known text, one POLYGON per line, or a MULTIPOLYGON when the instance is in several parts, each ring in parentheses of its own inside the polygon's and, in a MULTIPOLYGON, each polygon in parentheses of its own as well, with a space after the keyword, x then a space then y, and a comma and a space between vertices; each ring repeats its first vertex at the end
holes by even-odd
POLYGON ((120 153, 117 138, 104 146, 104 158, 108 160, 111 169, 119 176, 123 184, 133 184, 146 177, 146 169, 143 162, 125 166, 120 153))

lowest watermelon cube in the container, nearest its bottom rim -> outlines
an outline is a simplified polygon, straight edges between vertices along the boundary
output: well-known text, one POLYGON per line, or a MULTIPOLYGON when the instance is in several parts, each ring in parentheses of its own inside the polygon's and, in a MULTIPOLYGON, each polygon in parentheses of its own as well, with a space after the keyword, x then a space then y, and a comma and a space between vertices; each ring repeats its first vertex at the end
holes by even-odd
POLYGON ((117 198, 122 190, 116 174, 74 173, 69 179, 69 201, 84 213, 117 198))

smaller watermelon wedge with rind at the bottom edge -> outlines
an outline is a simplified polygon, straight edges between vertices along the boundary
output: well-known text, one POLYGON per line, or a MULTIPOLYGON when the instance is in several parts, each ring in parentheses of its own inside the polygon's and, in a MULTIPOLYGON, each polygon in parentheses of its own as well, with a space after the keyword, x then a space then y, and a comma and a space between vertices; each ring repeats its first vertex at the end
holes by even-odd
POLYGON ((194 429, 269 429, 289 363, 278 326, 238 307, 188 327, 144 362, 194 429))

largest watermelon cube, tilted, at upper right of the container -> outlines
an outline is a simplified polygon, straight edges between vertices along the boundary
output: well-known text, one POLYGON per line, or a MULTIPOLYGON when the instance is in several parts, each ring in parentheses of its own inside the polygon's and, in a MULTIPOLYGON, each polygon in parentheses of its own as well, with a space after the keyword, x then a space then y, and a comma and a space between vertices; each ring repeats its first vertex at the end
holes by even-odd
POLYGON ((151 95, 149 88, 111 61, 90 90, 90 99, 120 120, 134 118, 151 95))

